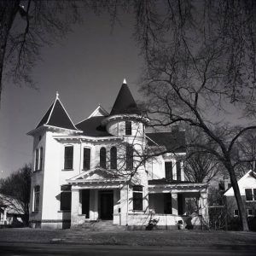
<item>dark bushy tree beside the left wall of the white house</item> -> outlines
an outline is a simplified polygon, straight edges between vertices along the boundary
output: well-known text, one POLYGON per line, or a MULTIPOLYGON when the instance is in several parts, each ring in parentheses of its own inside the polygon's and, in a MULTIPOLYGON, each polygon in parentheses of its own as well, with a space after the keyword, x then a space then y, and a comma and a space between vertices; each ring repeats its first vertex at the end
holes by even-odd
MULTIPOLYGON (((0 193, 9 196, 9 207, 15 208, 19 202, 22 212, 25 214, 26 224, 28 224, 29 217, 31 176, 32 166, 25 165, 18 172, 12 173, 5 179, 0 179, 0 193)), ((5 197, 5 201, 7 198, 5 197)))

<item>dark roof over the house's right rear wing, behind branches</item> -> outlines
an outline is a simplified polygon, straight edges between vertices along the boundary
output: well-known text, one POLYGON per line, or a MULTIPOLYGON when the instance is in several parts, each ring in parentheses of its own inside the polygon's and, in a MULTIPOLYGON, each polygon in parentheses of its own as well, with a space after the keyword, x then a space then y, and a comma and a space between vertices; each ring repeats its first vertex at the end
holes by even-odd
POLYGON ((168 131, 146 133, 148 137, 148 146, 163 146, 170 152, 186 152, 185 131, 168 131))

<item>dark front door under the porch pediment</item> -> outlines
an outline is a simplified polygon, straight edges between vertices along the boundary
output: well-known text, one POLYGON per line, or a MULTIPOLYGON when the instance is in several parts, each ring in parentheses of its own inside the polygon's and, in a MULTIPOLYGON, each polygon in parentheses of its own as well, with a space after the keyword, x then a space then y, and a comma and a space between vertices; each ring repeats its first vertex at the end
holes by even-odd
POLYGON ((100 191, 100 218, 113 219, 113 190, 100 191))

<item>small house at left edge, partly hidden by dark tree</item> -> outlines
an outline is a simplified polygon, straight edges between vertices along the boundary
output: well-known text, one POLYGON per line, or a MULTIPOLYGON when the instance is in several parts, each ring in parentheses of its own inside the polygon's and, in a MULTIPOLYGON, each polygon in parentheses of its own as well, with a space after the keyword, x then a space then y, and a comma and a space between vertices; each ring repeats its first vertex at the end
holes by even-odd
POLYGON ((24 212, 20 201, 0 194, 0 225, 22 225, 24 212))

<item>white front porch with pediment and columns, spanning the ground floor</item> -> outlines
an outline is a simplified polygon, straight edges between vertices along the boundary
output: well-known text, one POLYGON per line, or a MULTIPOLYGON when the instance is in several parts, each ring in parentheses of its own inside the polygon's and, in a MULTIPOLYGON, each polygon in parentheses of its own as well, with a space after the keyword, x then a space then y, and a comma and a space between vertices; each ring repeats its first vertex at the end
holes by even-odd
POLYGON ((83 173, 69 183, 71 227, 100 220, 131 229, 145 229, 152 219, 160 229, 177 229, 178 224, 201 228, 208 223, 207 184, 149 181, 138 186, 124 178, 106 179, 106 170, 104 174, 99 170, 83 173))

